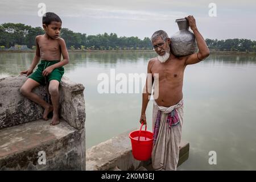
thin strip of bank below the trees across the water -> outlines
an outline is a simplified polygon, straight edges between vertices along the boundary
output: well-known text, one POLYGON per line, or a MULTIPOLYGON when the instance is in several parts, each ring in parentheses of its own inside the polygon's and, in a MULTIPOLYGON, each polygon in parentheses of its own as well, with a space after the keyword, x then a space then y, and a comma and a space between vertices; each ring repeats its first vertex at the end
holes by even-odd
MULTIPOLYGON (((35 52, 35 50, 0 50, 1 52, 35 52)), ((68 50, 68 52, 154 52, 152 50, 68 50)), ((210 51, 210 54, 216 55, 256 55, 256 52, 236 52, 236 51, 210 51)))

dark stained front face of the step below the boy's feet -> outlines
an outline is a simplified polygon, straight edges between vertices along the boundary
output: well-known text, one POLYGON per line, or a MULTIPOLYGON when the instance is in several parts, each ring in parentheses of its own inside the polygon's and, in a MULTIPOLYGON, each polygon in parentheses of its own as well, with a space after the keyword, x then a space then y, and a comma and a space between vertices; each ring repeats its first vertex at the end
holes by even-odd
POLYGON ((85 129, 74 130, 63 138, 52 139, 47 142, 42 142, 40 145, 31 147, 28 150, 22 150, 10 155, 2 156, 0 158, 0 171, 13 171, 13 170, 85 170, 85 129), (77 135, 82 138, 74 140, 73 136, 77 135), (77 145, 79 143, 79 145, 77 145), (53 147, 53 148, 52 148, 53 147), (38 164, 38 152, 45 151, 47 154, 46 165, 38 164), (57 153, 58 155, 55 155, 57 153), (19 156, 24 156, 28 160, 22 162, 27 163, 23 167, 16 164, 15 160, 19 156), (13 165, 13 167, 6 167, 3 164, 13 165), (57 166, 57 167, 56 167, 57 166))

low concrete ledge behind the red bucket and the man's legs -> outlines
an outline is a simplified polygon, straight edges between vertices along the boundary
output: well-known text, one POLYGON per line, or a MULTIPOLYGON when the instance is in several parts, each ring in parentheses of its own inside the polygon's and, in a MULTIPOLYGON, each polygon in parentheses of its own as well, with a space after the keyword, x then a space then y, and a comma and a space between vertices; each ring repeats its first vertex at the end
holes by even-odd
MULTIPOLYGON (((86 150, 86 170, 136 170, 141 166, 150 166, 151 161, 141 162, 133 158, 129 133, 127 131, 117 137, 102 142, 86 150)), ((181 142, 179 164, 187 160, 189 143, 181 142)))

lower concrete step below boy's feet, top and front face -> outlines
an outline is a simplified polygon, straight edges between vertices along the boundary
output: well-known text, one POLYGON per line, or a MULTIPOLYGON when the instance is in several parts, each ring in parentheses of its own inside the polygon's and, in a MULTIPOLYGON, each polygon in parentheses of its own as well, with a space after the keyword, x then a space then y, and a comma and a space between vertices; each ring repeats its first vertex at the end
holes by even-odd
POLYGON ((85 130, 42 119, 0 130, 0 170, 84 170, 85 130), (46 164, 38 164, 38 152, 46 164))

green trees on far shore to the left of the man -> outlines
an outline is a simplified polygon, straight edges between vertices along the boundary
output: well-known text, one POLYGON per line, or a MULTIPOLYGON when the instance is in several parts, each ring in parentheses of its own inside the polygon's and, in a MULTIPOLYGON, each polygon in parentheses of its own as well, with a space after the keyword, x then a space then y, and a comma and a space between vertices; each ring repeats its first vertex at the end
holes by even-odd
MULTIPOLYGON (((0 25, 0 45, 9 48, 18 45, 27 45, 34 49, 36 35, 44 34, 41 27, 26 26, 22 23, 3 23, 0 25)), ((76 33, 68 28, 61 29, 61 38, 66 42, 68 49, 119 50, 119 49, 151 49, 149 38, 139 39, 137 36, 127 38, 117 37, 117 34, 86 35, 76 33)))

